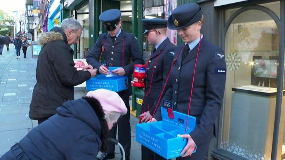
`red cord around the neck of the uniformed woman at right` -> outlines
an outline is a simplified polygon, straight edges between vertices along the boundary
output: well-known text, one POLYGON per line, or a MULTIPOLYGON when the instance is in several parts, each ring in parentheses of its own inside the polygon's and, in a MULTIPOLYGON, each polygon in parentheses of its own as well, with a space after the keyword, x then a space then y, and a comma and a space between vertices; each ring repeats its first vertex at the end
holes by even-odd
MULTIPOLYGON (((196 75, 196 67, 197 67, 197 62, 198 62, 198 56, 199 56, 200 45, 201 45, 201 34, 200 34, 200 40, 199 40, 199 45, 198 45, 198 50, 197 50, 197 56, 196 56, 196 60, 195 60, 194 73, 193 73, 193 79, 192 79, 192 87, 191 87, 191 91, 190 91, 190 100, 189 100, 189 105, 188 105, 188 113, 187 113, 187 120, 186 120, 186 126, 185 126, 184 134, 186 134, 186 131, 187 131, 187 125, 188 125, 188 119, 189 119, 188 117, 189 117, 190 108, 191 108, 191 100, 192 100, 192 93, 193 93, 193 88, 194 88, 194 80, 195 80, 195 75, 196 75)), ((165 87, 166 87, 166 85, 167 85, 167 83, 168 83, 168 80, 169 80, 171 71, 172 71, 172 69, 173 69, 173 66, 175 65, 176 60, 177 60, 178 56, 180 55, 181 50, 182 50, 183 47, 185 47, 185 45, 184 45, 184 46, 183 46, 183 45, 181 46, 180 51, 178 52, 177 56, 175 57, 175 59, 174 59, 174 61, 173 61, 173 64, 172 64, 172 66, 171 66, 171 68, 170 68, 170 71, 169 71, 169 74, 168 74, 168 76, 167 76, 166 82, 165 82, 165 84, 164 84, 164 86, 163 86, 163 89, 162 89, 162 92, 161 92, 161 94, 160 94, 160 96, 159 96, 157 105, 156 105, 155 110, 154 110, 154 112, 153 112, 153 114, 152 114, 152 118, 153 118, 153 116, 154 116, 154 114, 155 114, 155 112, 156 112, 156 110, 157 110, 157 108, 158 108, 158 105, 160 104, 162 95, 163 95, 163 93, 164 93, 164 89, 165 89, 165 87)), ((152 118, 151 118, 151 119, 152 119, 152 118)), ((185 139, 185 138, 183 138, 183 140, 184 140, 184 139, 185 139)))

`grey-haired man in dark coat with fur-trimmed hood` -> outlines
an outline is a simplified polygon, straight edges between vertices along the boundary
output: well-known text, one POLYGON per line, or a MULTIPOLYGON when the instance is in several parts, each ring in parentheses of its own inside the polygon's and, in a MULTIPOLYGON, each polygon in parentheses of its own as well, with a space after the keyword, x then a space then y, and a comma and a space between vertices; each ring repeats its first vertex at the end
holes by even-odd
POLYGON ((79 42, 82 30, 77 20, 68 18, 62 21, 60 28, 54 27, 39 35, 42 49, 29 111, 29 117, 39 124, 56 114, 56 108, 64 102, 74 100, 74 86, 96 75, 91 65, 79 71, 74 67, 70 45, 79 42))

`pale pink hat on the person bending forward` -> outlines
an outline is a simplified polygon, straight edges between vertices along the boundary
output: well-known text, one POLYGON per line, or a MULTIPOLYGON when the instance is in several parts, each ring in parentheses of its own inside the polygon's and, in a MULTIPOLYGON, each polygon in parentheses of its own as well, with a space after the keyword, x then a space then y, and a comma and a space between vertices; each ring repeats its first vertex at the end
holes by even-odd
POLYGON ((89 91, 86 94, 87 97, 93 97, 98 99, 103 110, 108 112, 120 112, 123 115, 127 113, 127 108, 124 101, 119 94, 107 89, 96 89, 95 91, 89 91))

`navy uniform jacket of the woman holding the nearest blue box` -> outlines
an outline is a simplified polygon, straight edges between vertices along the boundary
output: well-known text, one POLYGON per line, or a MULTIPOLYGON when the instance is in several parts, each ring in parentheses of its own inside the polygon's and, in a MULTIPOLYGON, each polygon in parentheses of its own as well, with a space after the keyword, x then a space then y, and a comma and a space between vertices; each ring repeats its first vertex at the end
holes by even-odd
MULTIPOLYGON (((177 47, 174 57, 180 48, 181 45, 177 47)), ((198 45, 182 62, 183 50, 184 48, 171 71, 169 86, 163 99, 173 102, 173 110, 187 115, 198 45)), ((224 55, 221 48, 208 42, 205 37, 202 38, 190 109, 190 115, 197 117, 197 126, 190 133, 196 145, 212 138, 209 137, 209 132, 214 131, 214 123, 220 113, 226 80, 224 55)), ((157 109, 154 118, 161 120, 160 109, 157 109)), ((214 131, 213 134, 215 133, 214 131)))

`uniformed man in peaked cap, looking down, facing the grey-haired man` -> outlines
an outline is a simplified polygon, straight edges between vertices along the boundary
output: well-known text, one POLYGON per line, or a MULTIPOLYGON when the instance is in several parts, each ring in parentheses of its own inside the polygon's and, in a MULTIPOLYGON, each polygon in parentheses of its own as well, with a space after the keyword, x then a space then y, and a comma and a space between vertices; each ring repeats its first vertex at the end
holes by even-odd
MULTIPOLYGON (((120 16, 121 11, 118 9, 106 10, 99 16, 99 20, 104 24, 108 33, 100 34, 95 45, 88 53, 86 61, 92 65, 93 68, 97 68, 101 74, 107 74, 109 72, 108 68, 104 66, 107 65, 119 67, 113 70, 112 73, 129 76, 133 74, 135 64, 144 64, 137 38, 134 34, 124 32, 121 29, 122 22, 120 16), (130 60, 132 61, 130 62, 130 60)), ((128 86, 128 89, 118 92, 128 108, 128 113, 120 117, 117 121, 119 143, 124 147, 126 159, 130 159, 131 152, 129 104, 129 96, 132 95, 131 80, 129 80, 128 86)), ((116 138, 117 125, 114 125, 110 130, 109 137, 116 138)), ((113 159, 115 157, 114 152, 115 145, 109 143, 106 153, 103 153, 99 159, 113 159)))

